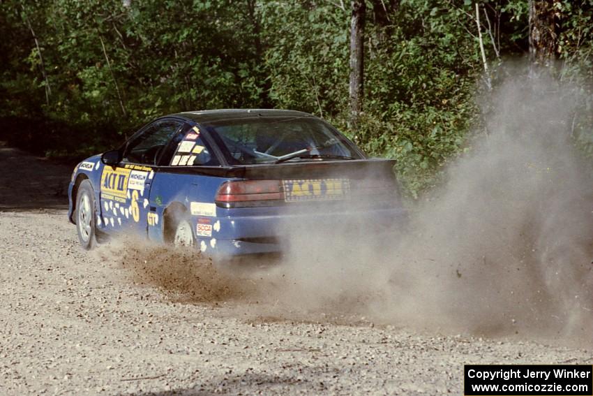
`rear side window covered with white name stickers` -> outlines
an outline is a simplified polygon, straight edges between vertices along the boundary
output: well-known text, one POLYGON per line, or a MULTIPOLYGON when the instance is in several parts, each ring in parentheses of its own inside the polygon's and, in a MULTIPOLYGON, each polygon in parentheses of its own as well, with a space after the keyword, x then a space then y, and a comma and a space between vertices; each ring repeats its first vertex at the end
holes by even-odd
POLYGON ((177 147, 171 159, 171 166, 218 166, 220 162, 213 154, 210 145, 204 140, 197 126, 189 126, 175 137, 177 147))

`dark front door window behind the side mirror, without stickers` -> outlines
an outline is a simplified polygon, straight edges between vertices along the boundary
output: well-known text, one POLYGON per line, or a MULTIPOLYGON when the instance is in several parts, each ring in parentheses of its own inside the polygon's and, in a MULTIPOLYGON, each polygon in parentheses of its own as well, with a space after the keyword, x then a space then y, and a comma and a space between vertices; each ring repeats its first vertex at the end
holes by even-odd
POLYGON ((135 138, 123 154, 123 161, 142 163, 145 165, 157 165, 160 154, 167 145, 167 142, 179 130, 181 122, 174 120, 157 121, 137 138, 135 138))

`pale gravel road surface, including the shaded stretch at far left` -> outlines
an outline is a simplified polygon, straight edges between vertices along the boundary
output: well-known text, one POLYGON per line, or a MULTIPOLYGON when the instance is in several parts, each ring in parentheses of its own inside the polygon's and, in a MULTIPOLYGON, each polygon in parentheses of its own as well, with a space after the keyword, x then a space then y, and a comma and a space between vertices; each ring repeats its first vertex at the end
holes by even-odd
POLYGON ((458 395, 465 363, 592 362, 560 340, 278 315, 240 296, 179 302, 130 275, 119 248, 80 249, 61 209, 69 168, 6 147, 0 165, 2 395, 458 395))

